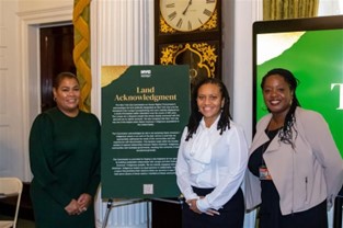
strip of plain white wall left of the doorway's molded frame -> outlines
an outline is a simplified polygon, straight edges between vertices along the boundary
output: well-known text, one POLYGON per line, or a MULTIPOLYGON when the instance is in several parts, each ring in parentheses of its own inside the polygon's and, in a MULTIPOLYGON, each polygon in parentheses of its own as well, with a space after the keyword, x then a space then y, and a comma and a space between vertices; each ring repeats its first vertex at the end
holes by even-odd
POLYGON ((0 1, 0 175, 25 178, 24 103, 15 1, 0 1))

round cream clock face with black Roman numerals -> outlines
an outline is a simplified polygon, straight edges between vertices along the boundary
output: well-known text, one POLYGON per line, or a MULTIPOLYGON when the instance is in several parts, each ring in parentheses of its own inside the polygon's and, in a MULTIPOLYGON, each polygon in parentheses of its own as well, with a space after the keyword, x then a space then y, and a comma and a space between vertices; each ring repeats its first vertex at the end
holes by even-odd
POLYGON ((160 0, 160 11, 171 27, 190 32, 210 19, 216 4, 217 0, 160 0))

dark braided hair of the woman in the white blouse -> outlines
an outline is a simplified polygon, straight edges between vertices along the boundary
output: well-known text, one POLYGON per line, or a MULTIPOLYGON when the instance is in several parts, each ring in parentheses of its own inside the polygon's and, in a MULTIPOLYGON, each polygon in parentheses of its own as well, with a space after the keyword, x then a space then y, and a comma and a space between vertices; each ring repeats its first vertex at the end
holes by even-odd
POLYGON ((230 96, 227 88, 222 83, 221 80, 217 78, 205 78, 201 80, 198 83, 196 83, 192 90, 192 98, 191 98, 191 115, 188 119, 188 134, 186 137, 186 141, 192 138, 193 134, 196 133, 197 127, 202 121, 203 114, 198 112, 198 106, 197 106, 197 92, 198 89, 204 86, 204 84, 216 84, 219 87, 219 91, 221 93, 221 98, 224 99, 224 106, 221 110, 221 114, 218 121, 217 129, 220 129, 220 135, 222 134, 226 128, 230 129, 230 119, 232 119, 231 114, 230 114, 230 96))

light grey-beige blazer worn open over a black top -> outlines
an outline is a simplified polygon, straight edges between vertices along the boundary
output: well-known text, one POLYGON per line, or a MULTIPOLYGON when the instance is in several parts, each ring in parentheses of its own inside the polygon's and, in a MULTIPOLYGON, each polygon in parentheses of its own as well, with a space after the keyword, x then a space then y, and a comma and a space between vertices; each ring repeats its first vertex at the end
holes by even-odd
MULTIPOLYGON (((307 210, 325 198, 329 207, 343 184, 343 160, 324 118, 317 112, 296 109, 295 148, 275 137, 263 158, 279 194, 283 215, 307 210)), ((264 133, 272 114, 256 125, 249 155, 268 140, 264 133)), ((245 174, 247 209, 261 204, 260 180, 245 174)))

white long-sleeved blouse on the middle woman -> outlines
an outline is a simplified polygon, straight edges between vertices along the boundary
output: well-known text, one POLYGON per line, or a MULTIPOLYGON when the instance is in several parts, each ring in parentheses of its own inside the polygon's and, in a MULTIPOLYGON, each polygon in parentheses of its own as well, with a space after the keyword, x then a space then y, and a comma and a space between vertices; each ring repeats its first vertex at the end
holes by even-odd
POLYGON ((248 163, 248 144, 243 129, 230 122, 230 129, 220 135, 219 117, 207 128, 204 118, 193 137, 185 141, 183 130, 178 161, 176 181, 186 200, 199 198, 192 190, 214 187, 206 197, 197 201, 202 212, 219 209, 240 187, 248 163))

